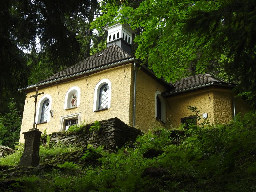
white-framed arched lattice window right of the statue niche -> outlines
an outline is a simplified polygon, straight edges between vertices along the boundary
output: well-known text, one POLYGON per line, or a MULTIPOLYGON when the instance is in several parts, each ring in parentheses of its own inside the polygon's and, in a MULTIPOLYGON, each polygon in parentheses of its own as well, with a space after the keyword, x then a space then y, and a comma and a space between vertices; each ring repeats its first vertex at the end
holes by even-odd
POLYGON ((111 102, 111 82, 102 79, 94 90, 93 111, 110 108, 111 102))

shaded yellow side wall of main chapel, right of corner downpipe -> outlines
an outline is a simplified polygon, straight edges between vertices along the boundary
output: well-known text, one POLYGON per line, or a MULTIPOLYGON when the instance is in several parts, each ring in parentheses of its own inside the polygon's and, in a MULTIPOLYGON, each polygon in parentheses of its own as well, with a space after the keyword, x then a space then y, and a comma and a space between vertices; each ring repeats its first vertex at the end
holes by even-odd
POLYGON ((137 72, 135 127, 143 132, 161 126, 161 123, 155 118, 156 90, 163 92, 166 89, 139 69, 137 72))

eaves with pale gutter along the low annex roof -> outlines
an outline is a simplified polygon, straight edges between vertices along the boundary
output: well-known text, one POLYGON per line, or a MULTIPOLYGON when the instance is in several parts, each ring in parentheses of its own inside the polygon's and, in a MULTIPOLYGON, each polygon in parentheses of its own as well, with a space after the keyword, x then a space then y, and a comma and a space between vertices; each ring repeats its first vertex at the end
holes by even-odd
POLYGON ((207 83, 207 84, 203 84, 203 85, 198 85, 198 86, 194 86, 194 87, 190 87, 190 88, 186 88, 186 89, 182 89, 182 90, 178 90, 178 91, 172 91, 172 92, 167 92, 162 94, 163 97, 168 97, 171 95, 176 95, 179 93, 183 93, 183 92, 188 92, 188 91, 193 91, 196 89, 200 89, 200 88, 204 88, 204 87, 209 87, 209 86, 221 86, 221 87, 229 87, 229 88, 234 88, 237 85, 236 84, 229 84, 229 83, 217 83, 217 82, 212 82, 212 83, 207 83))

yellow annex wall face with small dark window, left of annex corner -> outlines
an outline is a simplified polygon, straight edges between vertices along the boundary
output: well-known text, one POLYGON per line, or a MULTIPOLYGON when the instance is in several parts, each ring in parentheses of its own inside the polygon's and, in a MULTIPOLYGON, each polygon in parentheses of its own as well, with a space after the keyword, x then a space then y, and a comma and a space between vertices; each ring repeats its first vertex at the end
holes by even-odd
MULTIPOLYGON (((167 98, 170 108, 167 104, 166 108, 166 123, 167 126, 175 128, 180 126, 181 118, 195 115, 187 107, 194 106, 200 110, 201 113, 208 113, 207 120, 214 121, 213 111, 213 92, 208 89, 209 96, 206 90, 194 91, 189 93, 183 93, 180 95, 174 95, 167 98), (209 99, 210 97, 210 99, 209 99)), ((203 121, 203 119, 201 120, 203 121)), ((198 122, 197 122, 198 124, 198 122)))

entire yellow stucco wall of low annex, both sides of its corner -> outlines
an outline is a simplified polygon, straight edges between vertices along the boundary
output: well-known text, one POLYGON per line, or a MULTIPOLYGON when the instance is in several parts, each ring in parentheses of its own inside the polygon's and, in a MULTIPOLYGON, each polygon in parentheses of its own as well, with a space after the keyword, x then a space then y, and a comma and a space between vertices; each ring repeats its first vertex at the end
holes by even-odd
MULTIPOLYGON (((235 94, 229 88, 208 87, 207 90, 194 90, 193 92, 169 96, 167 98, 167 126, 176 128, 181 118, 195 115, 187 107, 194 106, 200 110, 200 115, 208 113, 207 120, 214 124, 227 124, 234 118, 233 99, 235 94), (208 92, 208 93, 207 93, 208 92), (209 94, 209 96, 208 96, 209 94), (210 99, 209 99, 210 97, 210 99)), ((246 113, 250 107, 242 99, 236 100, 236 113, 246 113)), ((202 118, 202 117, 201 117, 202 118)), ((204 121, 203 119, 200 120, 204 121)), ((198 121, 197 121, 198 124, 198 121)))

